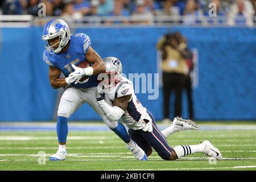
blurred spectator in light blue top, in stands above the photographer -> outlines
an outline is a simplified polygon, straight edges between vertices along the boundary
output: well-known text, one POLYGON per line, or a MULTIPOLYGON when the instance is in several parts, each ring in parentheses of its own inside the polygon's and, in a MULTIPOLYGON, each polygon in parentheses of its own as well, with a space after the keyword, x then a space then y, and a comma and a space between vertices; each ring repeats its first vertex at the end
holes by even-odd
POLYGON ((184 10, 183 23, 187 25, 193 25, 196 23, 200 23, 202 18, 203 12, 198 9, 196 1, 188 0, 184 10))

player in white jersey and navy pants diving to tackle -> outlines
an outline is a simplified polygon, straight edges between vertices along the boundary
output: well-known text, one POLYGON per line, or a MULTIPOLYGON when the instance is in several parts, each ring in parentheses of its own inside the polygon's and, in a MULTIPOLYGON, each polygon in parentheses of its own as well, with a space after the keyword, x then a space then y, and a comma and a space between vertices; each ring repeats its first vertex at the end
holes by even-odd
POLYGON ((196 152, 202 152, 215 159, 222 159, 221 152, 208 140, 196 145, 170 147, 166 137, 182 130, 182 127, 197 129, 196 124, 190 120, 176 117, 174 125, 161 133, 153 115, 137 99, 133 83, 122 77, 121 61, 115 57, 106 57, 104 63, 106 70, 98 76, 98 80, 100 79, 102 82, 98 85, 97 102, 110 120, 121 119, 126 123, 131 139, 146 152, 147 156, 152 153, 152 148, 154 148, 164 160, 175 160, 196 152), (104 97, 109 97, 113 106, 107 104, 104 97))

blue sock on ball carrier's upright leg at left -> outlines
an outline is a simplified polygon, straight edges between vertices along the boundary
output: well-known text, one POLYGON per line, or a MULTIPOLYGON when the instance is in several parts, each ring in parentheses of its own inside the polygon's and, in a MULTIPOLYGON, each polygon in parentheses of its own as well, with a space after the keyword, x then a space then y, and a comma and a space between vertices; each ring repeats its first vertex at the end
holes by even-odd
POLYGON ((68 136, 68 118, 58 116, 56 129, 59 142, 66 142, 68 136))

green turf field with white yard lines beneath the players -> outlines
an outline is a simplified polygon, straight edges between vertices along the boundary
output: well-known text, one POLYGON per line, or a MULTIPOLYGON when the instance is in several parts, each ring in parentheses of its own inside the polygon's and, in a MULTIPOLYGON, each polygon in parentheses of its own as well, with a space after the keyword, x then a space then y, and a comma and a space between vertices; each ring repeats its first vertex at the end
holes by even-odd
POLYGON ((168 142, 177 146, 206 139, 220 149, 224 160, 214 164, 203 154, 193 154, 164 161, 154 151, 148 161, 137 161, 112 131, 69 130, 67 159, 50 162, 57 150, 54 131, 1 131, 0 170, 256 170, 255 129, 181 131, 168 142), (46 152, 46 164, 38 163, 39 151, 46 152))

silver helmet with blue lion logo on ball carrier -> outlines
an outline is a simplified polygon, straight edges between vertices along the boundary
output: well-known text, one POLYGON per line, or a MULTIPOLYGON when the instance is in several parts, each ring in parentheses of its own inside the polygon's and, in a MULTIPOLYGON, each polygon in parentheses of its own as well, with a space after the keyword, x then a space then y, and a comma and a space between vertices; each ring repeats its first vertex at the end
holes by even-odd
MULTIPOLYGON (((43 30, 42 39, 46 42, 46 49, 49 53, 59 53, 69 42, 71 38, 71 31, 68 24, 62 19, 53 19, 49 21, 43 30), (52 45, 49 45, 49 40, 59 36, 59 47, 53 49, 52 45)), ((57 44, 57 43, 56 43, 57 44)))

